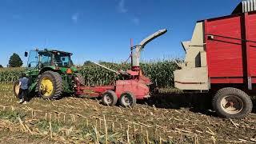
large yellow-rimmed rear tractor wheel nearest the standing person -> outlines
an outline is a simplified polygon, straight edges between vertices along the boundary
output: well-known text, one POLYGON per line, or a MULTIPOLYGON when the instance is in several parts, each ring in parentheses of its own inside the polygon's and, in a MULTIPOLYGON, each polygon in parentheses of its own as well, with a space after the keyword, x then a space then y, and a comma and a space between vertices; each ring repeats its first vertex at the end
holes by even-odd
POLYGON ((38 94, 43 99, 53 99, 61 96, 63 90, 62 76, 54 71, 42 73, 38 80, 38 94))

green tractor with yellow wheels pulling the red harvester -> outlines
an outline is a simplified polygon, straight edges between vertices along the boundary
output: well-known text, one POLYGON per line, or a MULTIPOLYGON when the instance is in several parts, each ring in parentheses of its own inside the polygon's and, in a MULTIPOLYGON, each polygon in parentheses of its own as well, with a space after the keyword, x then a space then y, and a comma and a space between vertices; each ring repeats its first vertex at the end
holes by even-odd
MULTIPOLYGON (((59 98, 63 93, 74 94, 75 82, 78 79, 85 83, 82 74, 71 60, 71 53, 59 50, 30 50, 26 76, 30 78, 30 94, 43 99, 59 98)), ((14 82, 14 94, 18 97, 19 82, 14 82)))

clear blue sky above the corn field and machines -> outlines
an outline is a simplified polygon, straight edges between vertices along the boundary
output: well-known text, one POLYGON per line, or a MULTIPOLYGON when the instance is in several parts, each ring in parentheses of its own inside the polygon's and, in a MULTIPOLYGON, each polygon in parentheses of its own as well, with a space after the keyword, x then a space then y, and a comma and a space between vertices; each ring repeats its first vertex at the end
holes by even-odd
POLYGON ((183 57, 195 22, 229 15, 241 0, 1 0, 0 64, 25 50, 56 48, 86 60, 122 62, 130 38, 138 44, 157 30, 169 30, 143 51, 146 61, 183 57))

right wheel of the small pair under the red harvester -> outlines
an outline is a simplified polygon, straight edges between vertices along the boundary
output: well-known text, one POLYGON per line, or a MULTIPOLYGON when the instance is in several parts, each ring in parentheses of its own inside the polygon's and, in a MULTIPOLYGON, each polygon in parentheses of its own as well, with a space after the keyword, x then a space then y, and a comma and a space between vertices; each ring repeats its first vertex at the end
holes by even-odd
POLYGON ((136 104, 136 98, 134 97, 134 94, 130 92, 124 92, 121 94, 119 102, 123 107, 133 107, 136 104))

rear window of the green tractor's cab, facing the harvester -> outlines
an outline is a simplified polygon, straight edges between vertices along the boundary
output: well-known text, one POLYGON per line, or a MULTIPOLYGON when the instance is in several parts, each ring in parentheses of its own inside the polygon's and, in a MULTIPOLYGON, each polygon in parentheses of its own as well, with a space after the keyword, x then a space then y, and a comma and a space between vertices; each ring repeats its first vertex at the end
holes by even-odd
POLYGON ((70 67, 73 65, 70 54, 54 54, 54 64, 60 67, 70 67))

